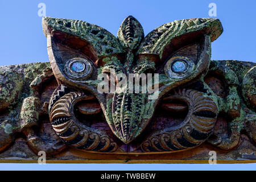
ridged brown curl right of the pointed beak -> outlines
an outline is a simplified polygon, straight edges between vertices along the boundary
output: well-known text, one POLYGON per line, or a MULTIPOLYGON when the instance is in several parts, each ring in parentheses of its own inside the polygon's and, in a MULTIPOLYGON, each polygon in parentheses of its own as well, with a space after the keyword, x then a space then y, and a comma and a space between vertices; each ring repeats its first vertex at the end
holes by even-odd
POLYGON ((212 133, 218 109, 211 98, 191 89, 179 90, 170 98, 187 103, 187 117, 174 129, 158 132, 143 142, 141 148, 144 152, 186 150, 199 146, 212 133))

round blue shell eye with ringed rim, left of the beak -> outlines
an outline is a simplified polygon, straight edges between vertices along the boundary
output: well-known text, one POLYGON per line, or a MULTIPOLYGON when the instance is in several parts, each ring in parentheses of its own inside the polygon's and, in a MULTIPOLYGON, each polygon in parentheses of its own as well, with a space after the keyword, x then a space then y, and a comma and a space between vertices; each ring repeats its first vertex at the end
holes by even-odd
POLYGON ((84 80, 92 73, 92 64, 80 57, 68 60, 63 69, 65 75, 73 80, 84 80))

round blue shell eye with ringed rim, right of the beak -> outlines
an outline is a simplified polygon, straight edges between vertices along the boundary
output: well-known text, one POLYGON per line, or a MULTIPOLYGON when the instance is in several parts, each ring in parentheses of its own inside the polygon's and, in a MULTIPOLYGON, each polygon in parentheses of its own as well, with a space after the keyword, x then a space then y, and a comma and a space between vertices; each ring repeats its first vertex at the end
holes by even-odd
POLYGON ((188 57, 172 57, 164 65, 164 72, 169 77, 183 78, 190 75, 195 64, 188 57))

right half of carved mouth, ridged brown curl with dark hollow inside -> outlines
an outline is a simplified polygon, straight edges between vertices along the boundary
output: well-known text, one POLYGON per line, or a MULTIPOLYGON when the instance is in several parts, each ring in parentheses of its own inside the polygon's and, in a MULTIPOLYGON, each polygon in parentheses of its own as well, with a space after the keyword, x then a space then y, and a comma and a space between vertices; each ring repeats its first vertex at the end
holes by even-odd
POLYGON ((156 131, 142 143, 145 152, 179 151, 198 146, 208 138, 217 117, 217 106, 204 93, 183 89, 164 97, 150 125, 156 131), (162 109, 162 113, 157 111, 162 109), (163 114, 163 110, 166 110, 163 114))

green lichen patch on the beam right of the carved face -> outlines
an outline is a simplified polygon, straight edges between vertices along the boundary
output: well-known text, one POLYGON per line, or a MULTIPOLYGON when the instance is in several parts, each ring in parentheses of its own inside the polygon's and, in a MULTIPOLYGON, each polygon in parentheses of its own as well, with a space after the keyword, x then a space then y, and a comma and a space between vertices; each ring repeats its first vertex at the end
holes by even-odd
MULTIPOLYGON (((253 76, 246 77, 246 74, 250 69, 253 69, 252 67, 254 65, 256 64, 236 60, 211 61, 210 69, 221 71, 220 73, 224 77, 224 82, 228 84, 226 85, 228 95, 225 98, 216 96, 219 112, 229 113, 230 110, 237 110, 240 113, 229 122, 229 129, 233 132, 241 133, 246 127, 246 122, 254 121, 253 117, 256 117, 255 111, 250 110, 245 105, 249 101, 244 94, 247 92, 252 93, 251 96, 255 95, 253 93, 255 79, 251 78, 253 76), (247 117, 248 114, 250 118, 247 117)), ((255 73, 251 75, 255 75, 255 73)))

